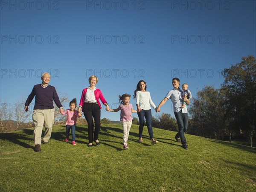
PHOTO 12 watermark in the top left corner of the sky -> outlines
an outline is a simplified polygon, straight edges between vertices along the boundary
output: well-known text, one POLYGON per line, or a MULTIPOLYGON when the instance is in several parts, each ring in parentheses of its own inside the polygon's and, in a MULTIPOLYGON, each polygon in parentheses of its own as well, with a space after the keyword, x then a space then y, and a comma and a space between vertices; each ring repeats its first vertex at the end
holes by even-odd
POLYGON ((59 10, 59 1, 0 1, 1 10, 59 10))

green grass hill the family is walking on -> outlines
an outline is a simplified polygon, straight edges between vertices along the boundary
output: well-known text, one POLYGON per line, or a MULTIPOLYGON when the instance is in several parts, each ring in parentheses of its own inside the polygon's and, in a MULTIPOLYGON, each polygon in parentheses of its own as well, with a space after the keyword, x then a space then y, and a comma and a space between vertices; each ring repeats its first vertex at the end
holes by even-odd
POLYGON ((147 128, 137 143, 132 125, 122 150, 119 124, 102 124, 101 145, 87 147, 87 127, 77 125, 76 143, 64 142, 55 126, 49 144, 34 151, 33 130, 0 134, 0 191, 256 191, 256 148, 186 134, 189 150, 175 132, 147 128))

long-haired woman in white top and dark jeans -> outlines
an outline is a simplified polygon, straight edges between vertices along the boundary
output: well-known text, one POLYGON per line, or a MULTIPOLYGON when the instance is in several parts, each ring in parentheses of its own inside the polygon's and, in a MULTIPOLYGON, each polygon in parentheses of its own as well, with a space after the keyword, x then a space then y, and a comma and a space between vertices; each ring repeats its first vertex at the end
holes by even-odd
POLYGON ((139 126, 139 143, 143 143, 142 140, 142 133, 143 133, 143 127, 146 119, 146 125, 148 127, 148 134, 151 139, 151 144, 154 145, 158 143, 157 140, 154 140, 153 136, 153 130, 152 130, 152 114, 151 114, 151 106, 156 109, 156 105, 154 105, 150 93, 147 90, 146 82, 143 80, 140 80, 137 84, 137 88, 134 91, 134 99, 136 98, 136 106, 137 106, 137 114, 140 121, 139 126), (150 106, 151 105, 151 106, 150 106))

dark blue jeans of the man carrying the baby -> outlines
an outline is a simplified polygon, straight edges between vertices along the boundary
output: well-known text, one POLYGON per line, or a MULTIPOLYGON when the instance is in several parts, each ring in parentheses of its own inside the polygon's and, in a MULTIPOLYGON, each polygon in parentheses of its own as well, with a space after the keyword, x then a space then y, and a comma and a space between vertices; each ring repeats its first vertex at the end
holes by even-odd
POLYGON ((181 110, 180 112, 174 113, 177 123, 178 123, 178 127, 179 127, 179 131, 176 134, 175 138, 179 138, 181 140, 182 144, 186 144, 186 138, 184 135, 184 132, 186 132, 186 130, 188 129, 188 113, 182 113, 181 110))

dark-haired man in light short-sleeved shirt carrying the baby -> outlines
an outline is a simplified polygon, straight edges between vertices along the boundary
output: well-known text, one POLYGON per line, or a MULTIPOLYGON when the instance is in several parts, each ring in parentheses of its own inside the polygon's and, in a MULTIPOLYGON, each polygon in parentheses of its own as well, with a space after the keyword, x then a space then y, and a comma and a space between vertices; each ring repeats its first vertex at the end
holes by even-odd
POLYGON ((182 101, 186 102, 189 105, 190 101, 186 97, 182 97, 182 91, 180 90, 180 79, 173 78, 172 79, 173 89, 170 90, 165 98, 158 105, 156 112, 160 111, 160 107, 163 106, 168 99, 171 99, 173 103, 174 115, 178 123, 179 131, 175 136, 177 142, 180 142, 184 149, 188 149, 188 145, 186 142, 186 138, 184 132, 188 128, 188 109, 185 105, 185 108, 180 108, 182 101))

